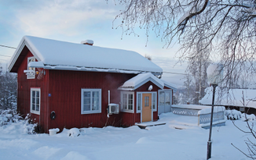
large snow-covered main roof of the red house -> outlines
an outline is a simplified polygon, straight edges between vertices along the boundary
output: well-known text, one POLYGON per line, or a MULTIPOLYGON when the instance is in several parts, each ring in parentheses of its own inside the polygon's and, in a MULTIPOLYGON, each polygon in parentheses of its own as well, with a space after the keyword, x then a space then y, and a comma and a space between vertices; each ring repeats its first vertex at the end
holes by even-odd
POLYGON ((31 36, 24 36, 20 41, 9 62, 9 71, 13 71, 13 66, 25 46, 39 62, 30 64, 33 67, 42 67, 43 65, 45 69, 117 73, 151 72, 155 75, 161 75, 163 72, 162 68, 137 52, 31 36))

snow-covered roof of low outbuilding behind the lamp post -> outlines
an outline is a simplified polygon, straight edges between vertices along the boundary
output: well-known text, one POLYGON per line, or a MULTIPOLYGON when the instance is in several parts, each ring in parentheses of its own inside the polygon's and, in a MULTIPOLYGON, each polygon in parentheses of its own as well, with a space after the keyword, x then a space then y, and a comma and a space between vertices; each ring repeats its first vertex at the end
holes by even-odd
MULTIPOLYGON (((207 87, 205 93, 205 96, 199 103, 203 105, 212 105, 212 87, 207 87)), ((214 105, 243 107, 243 96, 245 107, 256 108, 256 90, 251 89, 230 89, 229 91, 221 91, 219 87, 216 87, 214 105)))

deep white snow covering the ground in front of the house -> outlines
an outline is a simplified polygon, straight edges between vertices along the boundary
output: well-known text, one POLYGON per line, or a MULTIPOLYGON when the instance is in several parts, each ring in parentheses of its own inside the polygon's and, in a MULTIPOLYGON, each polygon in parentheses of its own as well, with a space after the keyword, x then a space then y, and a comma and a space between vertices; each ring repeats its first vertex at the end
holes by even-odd
MULTIPOLYGON (((68 137, 71 131, 57 135, 27 134, 21 123, 0 127, 0 159, 181 159, 204 160, 207 158, 209 130, 195 125, 196 117, 161 115, 161 126, 141 130, 138 126, 119 128, 82 128, 79 137, 68 137), (187 125, 185 125, 185 123, 187 125), (191 123, 188 123, 191 122, 191 123), (183 130, 174 128, 180 127, 183 130)), ((246 130, 246 123, 235 121, 246 130)), ((74 132, 74 133, 75 133, 74 132)), ((236 148, 247 152, 244 140, 249 137, 228 120, 226 126, 213 128, 211 160, 250 159, 236 148)))

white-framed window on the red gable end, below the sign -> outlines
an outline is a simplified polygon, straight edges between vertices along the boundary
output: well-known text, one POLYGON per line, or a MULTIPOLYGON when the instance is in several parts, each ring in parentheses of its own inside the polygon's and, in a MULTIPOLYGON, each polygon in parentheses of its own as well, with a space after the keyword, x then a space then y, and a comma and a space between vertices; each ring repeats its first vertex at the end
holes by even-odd
POLYGON ((31 88, 31 113, 40 115, 40 88, 31 88))

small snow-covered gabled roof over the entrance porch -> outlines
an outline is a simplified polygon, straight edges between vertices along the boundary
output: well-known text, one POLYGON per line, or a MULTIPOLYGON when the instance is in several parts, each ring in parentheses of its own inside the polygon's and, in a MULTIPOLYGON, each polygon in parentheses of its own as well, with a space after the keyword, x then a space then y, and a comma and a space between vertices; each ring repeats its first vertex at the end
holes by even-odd
MULTIPOLYGON (((155 84, 161 89, 163 89, 164 86, 170 86, 170 83, 160 80, 152 73, 141 73, 137 76, 134 76, 130 80, 127 80, 121 87, 119 87, 119 90, 134 91, 138 87, 141 87, 143 84, 147 83, 148 81, 152 81, 153 84, 155 84)), ((174 84, 170 88, 176 91, 176 87, 174 87, 174 84)))

